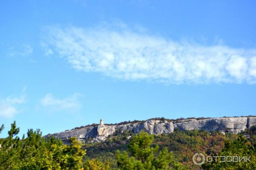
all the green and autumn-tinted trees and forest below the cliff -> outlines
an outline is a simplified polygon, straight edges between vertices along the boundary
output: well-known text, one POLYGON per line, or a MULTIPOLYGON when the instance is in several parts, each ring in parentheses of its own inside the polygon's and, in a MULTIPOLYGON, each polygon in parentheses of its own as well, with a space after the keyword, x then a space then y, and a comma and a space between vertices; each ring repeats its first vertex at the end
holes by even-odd
POLYGON ((45 139, 40 130, 30 129, 22 139, 18 133, 14 122, 9 136, 0 139, 0 170, 256 169, 256 126, 237 135, 204 130, 161 135, 116 131, 105 142, 79 143, 72 138, 68 145, 53 137, 45 139), (192 156, 197 152, 205 156, 248 155, 251 162, 218 161, 196 166, 192 156))

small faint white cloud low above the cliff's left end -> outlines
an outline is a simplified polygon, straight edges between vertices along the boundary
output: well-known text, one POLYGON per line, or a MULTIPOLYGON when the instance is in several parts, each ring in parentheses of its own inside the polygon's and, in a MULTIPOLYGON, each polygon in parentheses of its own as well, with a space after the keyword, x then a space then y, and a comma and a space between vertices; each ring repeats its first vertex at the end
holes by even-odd
POLYGON ((48 108, 50 111, 77 111, 81 108, 79 98, 82 95, 79 93, 73 94, 72 96, 65 97, 64 99, 58 99, 47 94, 40 100, 41 105, 48 108))

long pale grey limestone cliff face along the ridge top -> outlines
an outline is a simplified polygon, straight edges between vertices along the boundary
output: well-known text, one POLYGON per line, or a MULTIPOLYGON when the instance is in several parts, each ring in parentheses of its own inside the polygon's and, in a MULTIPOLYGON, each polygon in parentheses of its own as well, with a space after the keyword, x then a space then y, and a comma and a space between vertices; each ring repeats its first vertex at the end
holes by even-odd
MULTIPOLYGON (((105 141, 108 136, 116 131, 123 133, 125 130, 139 133, 142 130, 150 134, 172 133, 174 129, 180 130, 219 130, 220 132, 239 133, 246 128, 256 125, 256 117, 228 117, 211 119, 186 119, 176 122, 160 120, 147 120, 143 123, 128 123, 125 125, 98 125, 89 126, 77 130, 54 133, 53 136, 68 143, 70 137, 76 137, 80 141, 100 142, 105 141)), ((46 136, 49 137, 49 136, 46 136)))

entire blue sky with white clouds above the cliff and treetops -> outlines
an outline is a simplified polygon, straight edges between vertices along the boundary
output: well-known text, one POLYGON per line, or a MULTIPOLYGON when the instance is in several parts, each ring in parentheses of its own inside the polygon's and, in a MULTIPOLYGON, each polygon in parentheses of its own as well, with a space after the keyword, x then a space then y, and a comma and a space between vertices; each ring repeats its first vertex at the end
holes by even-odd
POLYGON ((43 134, 256 115, 256 2, 2 1, 0 124, 43 134))

